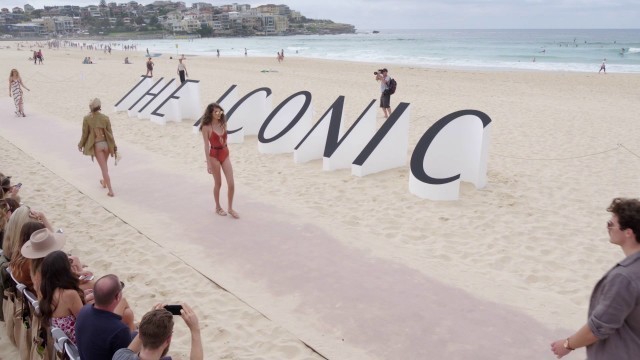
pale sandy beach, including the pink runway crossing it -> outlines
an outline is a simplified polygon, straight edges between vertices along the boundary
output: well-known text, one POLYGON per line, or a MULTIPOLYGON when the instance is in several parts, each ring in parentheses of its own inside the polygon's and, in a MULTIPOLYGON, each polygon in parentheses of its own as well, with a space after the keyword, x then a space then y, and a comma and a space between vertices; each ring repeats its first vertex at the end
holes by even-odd
MULTIPOLYGON (((143 52, 43 48, 34 65, 28 48, 3 45, 0 69, 17 68, 31 91, 26 118, 0 99, 0 171, 64 228, 66 250, 127 283, 137 320, 157 302, 193 305, 207 359, 552 359, 548 344, 584 324, 593 286, 623 257, 608 244, 605 208, 638 196, 640 75, 188 56, 203 106, 231 85, 241 96, 270 88, 274 107, 308 90, 314 122, 346 96, 347 125, 377 99, 372 72, 387 67, 399 84, 392 107, 411 104, 410 151, 451 112, 493 121, 487 186, 463 183, 451 202, 410 194, 408 166, 325 172, 261 154, 249 136, 230 145, 233 221, 213 212, 193 121, 113 111, 144 75, 143 52), (110 163, 114 198, 76 149, 93 97, 123 153, 110 163)), ((154 78, 177 78, 169 56, 154 58, 154 78)), ((170 354, 186 359, 177 323, 170 354)), ((14 358, 4 333, 0 345, 14 358)))

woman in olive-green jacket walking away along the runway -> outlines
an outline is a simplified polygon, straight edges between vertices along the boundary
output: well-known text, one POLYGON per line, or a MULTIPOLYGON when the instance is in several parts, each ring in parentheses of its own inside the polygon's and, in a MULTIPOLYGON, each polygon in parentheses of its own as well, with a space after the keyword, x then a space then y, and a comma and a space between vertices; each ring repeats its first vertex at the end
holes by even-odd
POLYGON ((96 98, 89 103, 89 115, 82 121, 82 137, 78 142, 78 150, 87 156, 91 156, 91 161, 95 157, 102 172, 100 185, 109 190, 108 196, 113 196, 111 178, 109 177, 109 167, 107 160, 109 155, 115 157, 118 152, 116 141, 111 130, 109 117, 100 112, 100 99, 96 98))

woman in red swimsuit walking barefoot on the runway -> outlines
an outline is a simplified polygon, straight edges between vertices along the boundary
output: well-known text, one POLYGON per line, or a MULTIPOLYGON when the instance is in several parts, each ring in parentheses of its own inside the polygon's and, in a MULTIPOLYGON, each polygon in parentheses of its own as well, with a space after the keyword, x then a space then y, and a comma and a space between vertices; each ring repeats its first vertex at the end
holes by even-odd
POLYGON ((204 155, 207 162, 207 172, 213 175, 213 198, 216 201, 216 214, 226 216, 227 213, 234 219, 239 218, 233 210, 233 193, 235 185, 233 183, 233 168, 229 159, 229 148, 227 147, 227 118, 220 105, 211 103, 207 106, 202 115, 200 132, 204 141, 204 155), (220 168, 227 179, 227 189, 229 198, 229 208, 227 211, 220 206, 220 187, 222 187, 222 177, 220 168))

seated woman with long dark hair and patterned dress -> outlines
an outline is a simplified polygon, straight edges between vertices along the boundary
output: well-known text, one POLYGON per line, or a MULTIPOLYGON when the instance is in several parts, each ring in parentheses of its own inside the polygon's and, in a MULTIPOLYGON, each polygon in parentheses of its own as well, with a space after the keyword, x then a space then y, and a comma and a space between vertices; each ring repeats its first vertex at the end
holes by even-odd
POLYGON ((46 326, 60 328, 76 343, 76 318, 84 306, 84 293, 71 271, 67 254, 58 250, 47 255, 40 268, 40 311, 46 326))

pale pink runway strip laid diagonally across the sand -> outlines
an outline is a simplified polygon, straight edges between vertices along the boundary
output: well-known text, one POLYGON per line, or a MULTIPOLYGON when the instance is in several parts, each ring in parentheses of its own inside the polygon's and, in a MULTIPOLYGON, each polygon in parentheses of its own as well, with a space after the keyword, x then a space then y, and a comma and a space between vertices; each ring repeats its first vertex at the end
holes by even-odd
POLYGON ((110 161, 108 198, 97 165, 76 148, 81 119, 13 111, 0 101, 2 137, 330 359, 553 358, 557 329, 287 221, 241 190, 240 220, 215 215, 212 179, 165 168, 162 154, 118 141, 124 158, 110 161))

